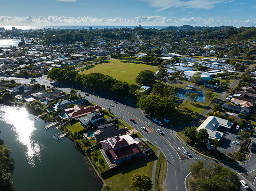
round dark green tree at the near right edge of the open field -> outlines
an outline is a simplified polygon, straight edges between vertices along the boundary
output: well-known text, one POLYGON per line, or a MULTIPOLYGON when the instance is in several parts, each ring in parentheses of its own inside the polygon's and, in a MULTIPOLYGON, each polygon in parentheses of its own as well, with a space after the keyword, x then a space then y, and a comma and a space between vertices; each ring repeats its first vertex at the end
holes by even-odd
POLYGON ((140 85, 150 85, 156 80, 155 73, 151 70, 144 70, 139 72, 137 77, 135 78, 135 81, 137 84, 140 85))

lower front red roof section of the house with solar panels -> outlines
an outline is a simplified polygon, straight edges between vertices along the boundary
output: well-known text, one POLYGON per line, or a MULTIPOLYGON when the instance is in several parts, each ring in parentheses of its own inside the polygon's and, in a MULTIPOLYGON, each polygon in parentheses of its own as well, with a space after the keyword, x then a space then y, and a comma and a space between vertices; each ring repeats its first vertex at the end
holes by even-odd
POLYGON ((128 145, 128 146, 122 147, 120 149, 117 149, 115 151, 113 149, 111 149, 111 150, 109 150, 109 152, 112 155, 112 157, 115 160, 117 160, 117 159, 129 156, 129 155, 138 153, 139 151, 137 149, 136 144, 132 144, 132 145, 128 145))

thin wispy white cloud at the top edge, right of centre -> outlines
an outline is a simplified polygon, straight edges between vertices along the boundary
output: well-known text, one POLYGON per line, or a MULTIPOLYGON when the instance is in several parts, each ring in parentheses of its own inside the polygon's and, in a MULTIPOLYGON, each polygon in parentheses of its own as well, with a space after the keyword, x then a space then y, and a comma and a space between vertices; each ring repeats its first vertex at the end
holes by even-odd
POLYGON ((216 4, 228 3, 228 0, 138 0, 148 2, 151 7, 158 7, 157 11, 163 11, 172 7, 183 7, 193 9, 212 9, 216 4))

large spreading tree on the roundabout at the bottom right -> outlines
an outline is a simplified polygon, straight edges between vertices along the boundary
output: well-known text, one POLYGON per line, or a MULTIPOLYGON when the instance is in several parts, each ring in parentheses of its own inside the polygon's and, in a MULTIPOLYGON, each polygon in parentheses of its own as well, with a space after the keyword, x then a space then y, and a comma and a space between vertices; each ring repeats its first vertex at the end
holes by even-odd
POLYGON ((188 184, 191 191, 240 191, 237 173, 216 163, 198 161, 190 166, 192 178, 188 184))

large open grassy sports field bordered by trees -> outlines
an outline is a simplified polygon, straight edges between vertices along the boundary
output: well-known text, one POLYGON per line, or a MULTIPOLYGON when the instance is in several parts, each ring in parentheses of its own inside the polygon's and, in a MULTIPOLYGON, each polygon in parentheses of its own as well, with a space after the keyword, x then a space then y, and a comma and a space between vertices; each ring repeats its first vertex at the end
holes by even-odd
POLYGON ((94 67, 91 67, 80 74, 99 72, 105 75, 110 75, 117 80, 126 81, 129 84, 136 84, 135 78, 140 71, 151 70, 156 72, 158 70, 158 67, 153 63, 150 65, 137 62, 121 62, 116 59, 106 60, 105 63, 94 64, 93 66, 94 67))

